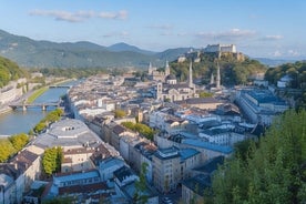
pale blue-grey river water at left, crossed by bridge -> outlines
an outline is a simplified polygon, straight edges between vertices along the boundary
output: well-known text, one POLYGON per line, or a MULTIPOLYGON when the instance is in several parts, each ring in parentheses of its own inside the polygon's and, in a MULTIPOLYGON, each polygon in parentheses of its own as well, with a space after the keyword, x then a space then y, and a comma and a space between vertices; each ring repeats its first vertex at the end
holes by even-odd
MULTIPOLYGON (((48 103, 59 101, 60 96, 64 95, 67 91, 67 88, 49 89, 47 92, 41 94, 33 103, 48 103)), ((27 111, 22 111, 22 109, 17 109, 6 114, 0 114, 0 135, 28 133, 31 129, 34 128, 37 123, 39 123, 41 119, 45 116, 45 114, 48 114, 48 112, 54 109, 55 108, 52 106, 48 106, 45 111, 42 111, 41 108, 29 108, 27 111)))

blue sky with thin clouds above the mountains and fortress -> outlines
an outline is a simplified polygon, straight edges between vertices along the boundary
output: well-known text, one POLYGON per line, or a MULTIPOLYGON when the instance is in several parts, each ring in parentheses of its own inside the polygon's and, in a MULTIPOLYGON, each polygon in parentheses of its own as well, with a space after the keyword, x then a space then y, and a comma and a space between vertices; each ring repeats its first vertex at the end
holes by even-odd
POLYGON ((0 29, 33 40, 125 42, 144 50, 236 44, 306 59, 305 0, 0 0, 0 29))

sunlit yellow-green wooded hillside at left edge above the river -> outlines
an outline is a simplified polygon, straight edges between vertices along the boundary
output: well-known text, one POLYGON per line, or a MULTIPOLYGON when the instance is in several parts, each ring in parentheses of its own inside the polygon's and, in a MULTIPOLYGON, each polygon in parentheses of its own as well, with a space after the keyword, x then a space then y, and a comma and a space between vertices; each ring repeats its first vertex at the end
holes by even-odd
POLYGON ((27 76, 27 71, 20 69, 17 63, 0 57, 0 88, 10 81, 27 76))

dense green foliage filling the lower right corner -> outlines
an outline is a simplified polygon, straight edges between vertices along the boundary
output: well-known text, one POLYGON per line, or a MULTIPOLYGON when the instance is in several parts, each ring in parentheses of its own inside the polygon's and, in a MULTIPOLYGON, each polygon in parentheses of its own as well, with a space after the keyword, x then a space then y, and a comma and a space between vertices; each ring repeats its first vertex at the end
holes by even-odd
POLYGON ((306 202, 306 111, 279 116, 245 160, 226 162, 213 180, 214 203, 306 202))

